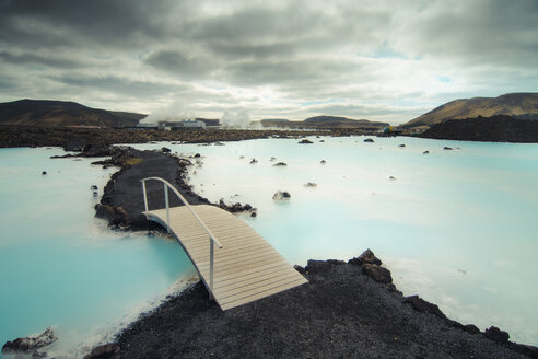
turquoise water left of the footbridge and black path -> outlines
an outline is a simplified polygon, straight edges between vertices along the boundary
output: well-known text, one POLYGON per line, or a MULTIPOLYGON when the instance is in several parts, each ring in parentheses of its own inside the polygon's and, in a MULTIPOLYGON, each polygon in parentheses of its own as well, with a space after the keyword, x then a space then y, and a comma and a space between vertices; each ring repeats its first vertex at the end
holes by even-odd
POLYGON ((159 303, 191 265, 171 240, 108 231, 90 186, 101 196, 112 171, 52 154, 63 151, 0 150, 0 346, 52 325, 60 339, 47 351, 72 358, 159 303))

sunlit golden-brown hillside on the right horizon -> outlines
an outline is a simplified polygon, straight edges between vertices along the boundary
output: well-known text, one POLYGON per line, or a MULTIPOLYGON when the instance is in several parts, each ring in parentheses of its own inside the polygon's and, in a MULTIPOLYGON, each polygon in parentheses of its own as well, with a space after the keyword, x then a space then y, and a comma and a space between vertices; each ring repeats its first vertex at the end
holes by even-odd
POLYGON ((499 97, 473 97, 448 102, 401 125, 404 128, 432 127, 449 119, 506 115, 538 119, 538 93, 508 93, 499 97))

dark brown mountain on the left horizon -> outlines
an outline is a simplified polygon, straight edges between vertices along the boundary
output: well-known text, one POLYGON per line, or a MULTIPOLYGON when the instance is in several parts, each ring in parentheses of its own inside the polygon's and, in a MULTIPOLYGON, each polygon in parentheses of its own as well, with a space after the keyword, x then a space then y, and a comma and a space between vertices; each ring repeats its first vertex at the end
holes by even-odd
POLYGON ((145 115, 91 108, 75 102, 20 100, 0 103, 0 125, 12 126, 137 126, 145 115))

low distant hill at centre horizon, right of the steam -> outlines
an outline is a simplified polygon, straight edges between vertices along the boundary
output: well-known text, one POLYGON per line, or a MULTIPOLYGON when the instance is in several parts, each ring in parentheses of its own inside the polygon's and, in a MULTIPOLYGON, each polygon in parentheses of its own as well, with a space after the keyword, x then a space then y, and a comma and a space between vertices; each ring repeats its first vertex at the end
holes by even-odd
POLYGON ((375 123, 367 119, 351 119, 337 116, 315 116, 304 120, 288 119, 262 119, 264 127, 286 127, 286 128, 306 128, 306 129, 364 129, 379 130, 388 126, 387 123, 375 123))

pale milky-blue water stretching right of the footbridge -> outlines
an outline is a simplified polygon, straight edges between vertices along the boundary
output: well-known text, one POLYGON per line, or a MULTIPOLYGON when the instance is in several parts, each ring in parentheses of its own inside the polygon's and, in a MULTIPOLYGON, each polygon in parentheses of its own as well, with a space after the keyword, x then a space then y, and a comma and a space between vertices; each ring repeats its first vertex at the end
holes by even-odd
POLYGON ((201 153, 203 165, 191 170, 195 189, 212 201, 257 207, 259 216, 245 220, 290 263, 347 260, 370 247, 406 294, 482 331, 496 325, 514 340, 538 344, 537 144, 309 139, 315 143, 168 147, 201 153), (272 166, 271 157, 288 166, 272 166), (291 200, 273 201, 277 190, 291 200))

